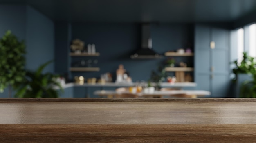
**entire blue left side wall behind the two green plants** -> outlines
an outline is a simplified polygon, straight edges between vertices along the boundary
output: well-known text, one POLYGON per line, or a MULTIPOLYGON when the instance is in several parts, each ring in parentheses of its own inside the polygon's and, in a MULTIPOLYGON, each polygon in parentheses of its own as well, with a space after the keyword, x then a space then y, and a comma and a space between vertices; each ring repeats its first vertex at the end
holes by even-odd
MULTIPOLYGON (((27 69, 54 59, 54 24, 49 18, 29 6, 0 5, 0 19, 0 37, 11 30, 19 40, 26 41, 27 69)), ((46 67, 45 72, 53 72, 53 66, 46 67)), ((0 97, 8 97, 7 90, 0 97)))

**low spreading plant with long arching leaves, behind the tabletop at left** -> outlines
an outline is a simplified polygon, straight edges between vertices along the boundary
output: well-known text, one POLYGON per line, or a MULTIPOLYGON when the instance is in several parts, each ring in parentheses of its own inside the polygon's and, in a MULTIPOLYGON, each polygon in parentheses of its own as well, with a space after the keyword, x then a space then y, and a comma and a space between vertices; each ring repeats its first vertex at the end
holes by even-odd
POLYGON ((38 67, 34 72, 27 71, 25 80, 20 83, 16 92, 16 97, 19 98, 57 98, 58 91, 53 86, 60 87, 61 85, 54 80, 58 75, 51 73, 42 74, 43 69, 52 61, 38 67))

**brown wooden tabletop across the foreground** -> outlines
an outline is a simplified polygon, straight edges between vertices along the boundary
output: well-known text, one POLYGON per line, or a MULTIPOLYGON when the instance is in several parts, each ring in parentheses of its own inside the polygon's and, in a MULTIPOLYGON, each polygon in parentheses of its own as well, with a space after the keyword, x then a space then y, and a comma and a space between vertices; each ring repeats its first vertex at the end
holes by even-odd
POLYGON ((0 143, 256 141, 254 98, 1 98, 0 143))

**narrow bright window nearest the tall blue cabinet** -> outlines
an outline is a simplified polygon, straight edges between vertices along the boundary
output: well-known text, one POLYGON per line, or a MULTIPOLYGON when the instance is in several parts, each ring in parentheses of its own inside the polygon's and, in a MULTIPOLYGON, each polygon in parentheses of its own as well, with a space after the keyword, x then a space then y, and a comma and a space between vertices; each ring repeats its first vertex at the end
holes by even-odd
POLYGON ((237 30, 237 61, 238 65, 243 60, 243 52, 244 52, 244 29, 240 28, 237 30))

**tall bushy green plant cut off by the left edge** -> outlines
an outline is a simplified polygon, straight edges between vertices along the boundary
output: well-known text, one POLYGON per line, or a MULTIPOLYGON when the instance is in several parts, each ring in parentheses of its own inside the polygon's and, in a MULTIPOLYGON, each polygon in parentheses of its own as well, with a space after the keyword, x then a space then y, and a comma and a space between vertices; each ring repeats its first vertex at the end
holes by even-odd
POLYGON ((0 39, 0 92, 16 87, 25 76, 25 43, 8 30, 0 39))

